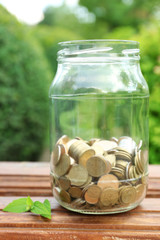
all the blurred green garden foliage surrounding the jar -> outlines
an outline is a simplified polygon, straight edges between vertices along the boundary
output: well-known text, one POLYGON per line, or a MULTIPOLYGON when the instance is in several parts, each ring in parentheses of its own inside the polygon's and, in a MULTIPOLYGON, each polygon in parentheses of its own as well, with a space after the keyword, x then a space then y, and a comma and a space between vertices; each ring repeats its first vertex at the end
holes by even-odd
POLYGON ((160 163, 160 2, 79 4, 48 7, 35 26, 19 23, 0 6, 0 160, 38 160, 48 147, 48 89, 57 68, 57 43, 101 38, 140 42, 141 69, 150 88, 150 163, 160 163))

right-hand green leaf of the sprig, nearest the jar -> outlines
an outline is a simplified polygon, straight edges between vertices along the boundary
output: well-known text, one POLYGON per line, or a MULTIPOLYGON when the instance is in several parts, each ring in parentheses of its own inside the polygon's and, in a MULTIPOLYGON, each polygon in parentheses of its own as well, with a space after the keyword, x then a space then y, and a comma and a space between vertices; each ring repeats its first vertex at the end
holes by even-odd
POLYGON ((48 208, 46 208, 46 206, 39 201, 34 202, 31 212, 40 214, 42 217, 51 219, 51 211, 49 211, 48 208))

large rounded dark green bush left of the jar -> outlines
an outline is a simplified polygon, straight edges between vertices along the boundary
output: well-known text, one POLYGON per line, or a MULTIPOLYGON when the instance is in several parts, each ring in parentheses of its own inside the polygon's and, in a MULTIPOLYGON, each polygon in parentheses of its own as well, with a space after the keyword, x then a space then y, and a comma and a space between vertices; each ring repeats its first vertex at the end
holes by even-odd
POLYGON ((48 125, 48 63, 40 45, 0 6, 0 160, 37 160, 48 125))

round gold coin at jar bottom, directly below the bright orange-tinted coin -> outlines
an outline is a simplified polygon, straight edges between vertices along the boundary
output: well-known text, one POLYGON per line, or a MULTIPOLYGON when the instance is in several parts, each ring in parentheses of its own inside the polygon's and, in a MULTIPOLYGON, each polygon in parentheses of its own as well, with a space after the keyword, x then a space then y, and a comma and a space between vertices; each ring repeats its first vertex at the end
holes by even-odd
POLYGON ((118 202, 118 189, 103 189, 100 196, 100 201, 106 207, 115 205, 118 202))

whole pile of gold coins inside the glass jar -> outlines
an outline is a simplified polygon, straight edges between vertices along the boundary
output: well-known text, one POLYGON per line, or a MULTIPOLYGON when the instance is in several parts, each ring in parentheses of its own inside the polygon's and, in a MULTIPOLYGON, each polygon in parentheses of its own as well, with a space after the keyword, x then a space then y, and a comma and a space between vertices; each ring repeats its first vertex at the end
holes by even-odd
POLYGON ((70 209, 98 211, 139 203, 146 193, 147 157, 128 136, 110 140, 62 136, 51 154, 55 198, 70 209))

